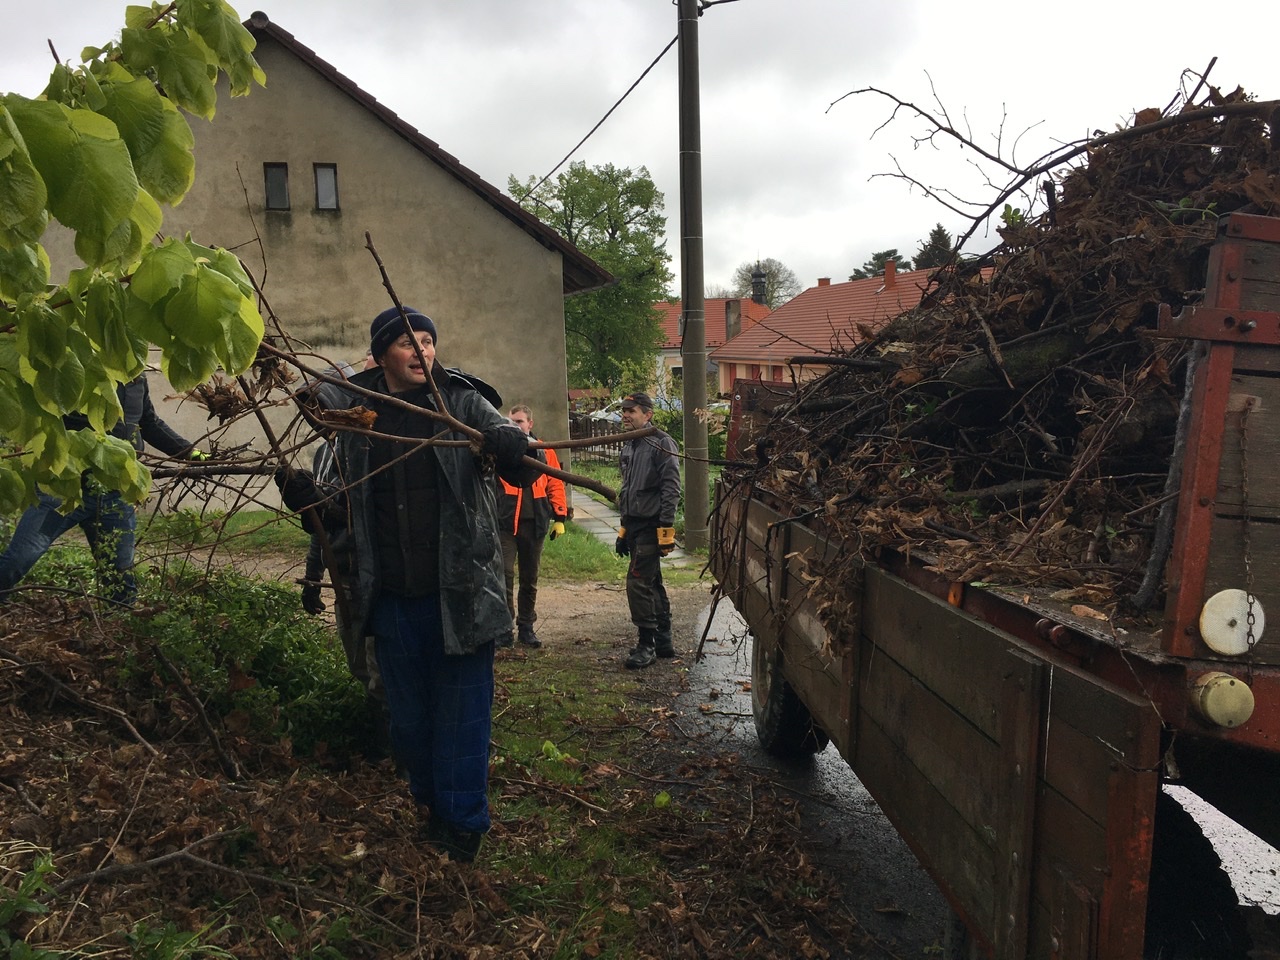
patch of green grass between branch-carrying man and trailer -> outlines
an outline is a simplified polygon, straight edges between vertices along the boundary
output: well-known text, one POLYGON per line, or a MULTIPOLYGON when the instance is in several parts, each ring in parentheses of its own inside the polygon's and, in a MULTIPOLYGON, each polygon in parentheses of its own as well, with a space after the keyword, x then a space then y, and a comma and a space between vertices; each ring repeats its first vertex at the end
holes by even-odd
MULTIPOLYGON (((586 643, 600 646, 602 655, 608 648, 586 643)), ((486 847, 488 863, 509 872, 504 896, 513 913, 562 919, 562 946, 549 956, 628 956, 635 915, 662 893, 663 864, 612 817, 584 817, 572 797, 611 812, 637 803, 652 809, 649 791, 637 796, 635 782, 600 773, 631 762, 645 736, 640 723, 621 722, 634 721, 641 687, 626 676, 602 685, 594 657, 499 660, 497 680, 493 800, 503 822, 526 838, 530 824, 538 828, 532 841, 486 847), (547 731, 561 736, 553 742, 547 731), (600 952, 584 954, 591 946, 600 952)))

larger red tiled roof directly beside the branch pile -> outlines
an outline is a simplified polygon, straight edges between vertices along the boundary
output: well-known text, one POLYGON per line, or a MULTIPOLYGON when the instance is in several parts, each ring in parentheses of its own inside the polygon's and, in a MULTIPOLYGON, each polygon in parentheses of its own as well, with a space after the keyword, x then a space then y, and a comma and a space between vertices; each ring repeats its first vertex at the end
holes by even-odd
POLYGON ((859 329, 878 329, 920 302, 934 270, 909 270, 849 283, 819 283, 744 329, 717 348, 717 364, 781 364, 797 353, 849 349, 863 339, 859 329))

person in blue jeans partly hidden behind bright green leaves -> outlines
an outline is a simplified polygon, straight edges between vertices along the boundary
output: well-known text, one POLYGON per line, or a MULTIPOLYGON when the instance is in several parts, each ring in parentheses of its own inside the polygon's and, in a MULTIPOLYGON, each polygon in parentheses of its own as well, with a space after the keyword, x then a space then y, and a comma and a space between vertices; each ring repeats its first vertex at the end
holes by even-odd
MULTIPOLYGON (((128 440, 138 453, 142 452, 145 443, 150 443, 170 457, 205 458, 189 440, 184 440, 159 417, 151 406, 145 374, 120 384, 115 394, 124 415, 111 428, 113 436, 128 440)), ((88 426, 88 420, 79 413, 65 417, 65 422, 69 430, 88 426)), ((134 532, 138 521, 133 504, 119 492, 108 490, 88 477, 84 479, 81 506, 70 513, 59 512, 63 504, 59 498, 44 492, 37 492, 37 495, 40 502, 28 507, 22 515, 13 539, 9 540, 4 554, 0 554, 0 602, 8 599, 6 594, 27 576, 54 540, 73 526, 78 526, 84 531, 99 568, 104 571, 100 575, 104 595, 113 603, 132 604, 138 595, 133 576, 134 532), (108 568, 111 571, 109 575, 105 573, 108 568)))

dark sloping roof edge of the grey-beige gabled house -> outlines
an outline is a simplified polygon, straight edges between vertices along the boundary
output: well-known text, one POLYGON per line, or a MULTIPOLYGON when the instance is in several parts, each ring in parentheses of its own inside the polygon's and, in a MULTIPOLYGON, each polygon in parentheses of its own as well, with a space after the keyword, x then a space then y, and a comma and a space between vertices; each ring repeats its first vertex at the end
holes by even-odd
POLYGON ((460 164, 456 156, 440 150, 439 143, 434 140, 424 137, 415 127, 402 120, 394 110, 383 106, 372 95, 361 90, 355 81, 339 73, 333 64, 320 59, 315 50, 298 42, 297 37, 283 27, 271 23, 265 13, 255 12, 244 22, 244 27, 256 40, 269 37, 283 46, 298 58, 298 60, 305 63, 326 81, 333 83, 343 93, 378 116, 378 119, 385 123, 392 132, 406 140, 420 154, 443 168, 445 172, 451 173, 466 187, 477 193, 499 214, 515 223, 516 227, 522 229, 548 250, 561 253, 564 262, 563 278, 566 296, 571 293, 585 293, 588 291, 599 289, 600 287, 608 287, 609 284, 617 283, 608 270, 596 264, 567 239, 561 237, 556 233, 556 230, 544 224, 536 216, 524 210, 520 204, 504 195, 497 187, 481 179, 475 170, 468 170, 466 166, 460 164))

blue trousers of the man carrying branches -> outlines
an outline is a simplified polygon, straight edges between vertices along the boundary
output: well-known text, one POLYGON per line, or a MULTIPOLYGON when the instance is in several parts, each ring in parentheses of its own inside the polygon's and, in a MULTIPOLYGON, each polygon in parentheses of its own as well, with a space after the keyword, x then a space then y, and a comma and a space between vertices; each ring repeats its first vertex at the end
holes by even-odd
POLYGON ((410 792, 433 818, 486 832, 493 644, 445 654, 439 595, 383 593, 372 613, 392 750, 410 792))

